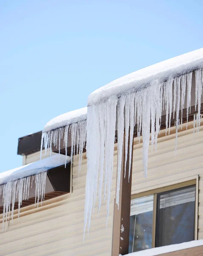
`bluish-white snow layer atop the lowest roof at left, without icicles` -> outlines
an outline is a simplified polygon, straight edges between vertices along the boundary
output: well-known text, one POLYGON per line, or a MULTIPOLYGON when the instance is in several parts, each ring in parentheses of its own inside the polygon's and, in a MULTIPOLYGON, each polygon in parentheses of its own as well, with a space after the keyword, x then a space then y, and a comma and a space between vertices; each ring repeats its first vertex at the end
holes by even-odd
MULTIPOLYGON (((40 172, 46 172, 54 167, 62 166, 65 163, 65 159, 66 157, 64 155, 60 155, 59 158, 58 154, 55 154, 52 157, 2 172, 0 173, 0 185, 8 181, 18 180, 40 172)), ((67 163, 70 163, 70 157, 67 157, 67 163)))

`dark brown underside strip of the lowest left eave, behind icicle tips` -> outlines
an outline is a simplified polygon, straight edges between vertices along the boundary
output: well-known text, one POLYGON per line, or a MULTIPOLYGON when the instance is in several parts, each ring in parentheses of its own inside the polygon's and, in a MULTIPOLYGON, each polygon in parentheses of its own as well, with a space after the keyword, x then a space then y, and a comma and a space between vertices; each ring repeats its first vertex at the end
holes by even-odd
MULTIPOLYGON (((49 200, 51 198, 56 198, 60 195, 67 194, 67 193, 68 192, 63 192, 63 191, 53 191, 53 192, 46 193, 43 202, 46 200, 49 200)), ((23 200, 22 205, 20 206, 20 209, 23 207, 29 206, 31 204, 35 204, 35 197, 29 198, 28 200, 23 200)), ((39 201, 39 204, 41 205, 41 200, 39 201)), ((12 209, 12 205, 11 205, 11 209, 12 209)), ((16 209, 18 209, 18 202, 15 202, 15 204, 14 204, 14 210, 16 210, 16 209)), ((3 206, 0 207, 0 214, 2 214, 2 213, 3 213, 3 206)))

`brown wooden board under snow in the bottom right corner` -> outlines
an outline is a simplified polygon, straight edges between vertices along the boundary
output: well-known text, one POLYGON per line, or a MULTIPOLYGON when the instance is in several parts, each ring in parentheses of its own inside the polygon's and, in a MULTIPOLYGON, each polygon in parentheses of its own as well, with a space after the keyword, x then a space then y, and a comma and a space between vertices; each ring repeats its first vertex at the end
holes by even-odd
POLYGON ((159 254, 159 256, 203 256, 203 245, 177 250, 171 253, 159 254))

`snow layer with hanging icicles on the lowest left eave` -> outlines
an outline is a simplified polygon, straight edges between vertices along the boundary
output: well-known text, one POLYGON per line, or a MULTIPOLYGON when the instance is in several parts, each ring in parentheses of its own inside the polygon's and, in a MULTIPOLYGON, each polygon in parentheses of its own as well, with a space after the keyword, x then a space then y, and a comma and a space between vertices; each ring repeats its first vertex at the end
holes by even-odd
MULTIPOLYGON (((45 158, 35 163, 30 163, 7 172, 0 173, 0 196, 3 200, 3 224, 6 219, 9 220, 10 211, 13 220, 15 200, 18 201, 18 217, 20 215, 20 206, 23 200, 29 198, 30 185, 35 184, 35 204, 44 200, 46 188, 46 174, 49 169, 64 165, 65 156, 58 155, 45 158)), ((67 159, 70 163, 70 157, 67 159)), ((4 227, 4 225, 3 225, 4 227)))

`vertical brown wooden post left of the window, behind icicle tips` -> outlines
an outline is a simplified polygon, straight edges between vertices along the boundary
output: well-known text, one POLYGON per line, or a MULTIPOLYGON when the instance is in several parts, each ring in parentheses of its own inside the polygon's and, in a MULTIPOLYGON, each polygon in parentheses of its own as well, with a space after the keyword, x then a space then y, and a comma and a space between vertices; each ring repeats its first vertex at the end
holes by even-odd
POLYGON ((113 240, 112 240, 112 256, 118 256, 119 254, 128 254, 129 247, 129 232, 130 232, 130 213, 131 213, 131 185, 132 185, 132 167, 133 167, 133 150, 131 159, 129 156, 130 146, 133 149, 133 143, 130 145, 130 136, 128 138, 128 156, 126 164, 126 177, 125 177, 125 134, 123 140, 122 151, 122 173, 121 184, 119 192, 119 209, 114 201, 114 213, 113 213, 113 240), (129 163, 131 161, 131 176, 128 182, 128 170, 129 163))

